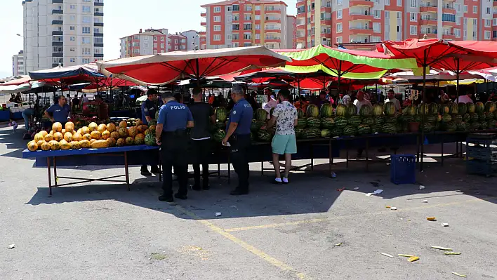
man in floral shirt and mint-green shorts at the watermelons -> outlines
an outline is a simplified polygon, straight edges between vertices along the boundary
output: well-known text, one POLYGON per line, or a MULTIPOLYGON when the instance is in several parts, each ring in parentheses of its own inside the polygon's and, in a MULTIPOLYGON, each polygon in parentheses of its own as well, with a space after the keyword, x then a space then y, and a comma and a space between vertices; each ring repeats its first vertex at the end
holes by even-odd
POLYGON ((297 153, 297 142, 295 138, 295 126, 297 125, 297 109, 289 102, 290 91, 286 88, 279 91, 279 104, 274 107, 272 117, 267 124, 268 127, 276 124, 274 138, 272 138, 272 161, 276 184, 288 184, 289 173, 291 168, 291 154, 297 153), (285 156, 285 173, 283 178, 279 171, 279 156, 285 156))

